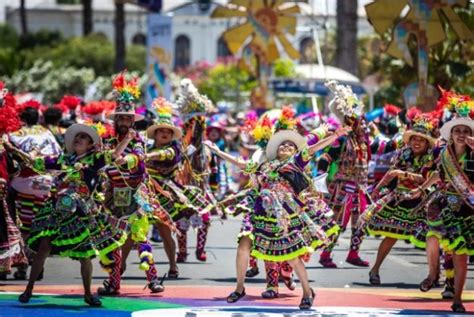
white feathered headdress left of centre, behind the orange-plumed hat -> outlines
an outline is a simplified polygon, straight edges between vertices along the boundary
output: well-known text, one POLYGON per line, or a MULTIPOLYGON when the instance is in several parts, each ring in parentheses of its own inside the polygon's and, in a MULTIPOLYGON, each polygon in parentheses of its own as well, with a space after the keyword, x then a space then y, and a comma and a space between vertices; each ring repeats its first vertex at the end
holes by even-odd
POLYGON ((180 83, 181 93, 177 97, 176 108, 184 122, 196 116, 205 116, 214 111, 212 102, 201 95, 189 78, 180 83))

